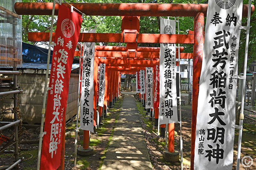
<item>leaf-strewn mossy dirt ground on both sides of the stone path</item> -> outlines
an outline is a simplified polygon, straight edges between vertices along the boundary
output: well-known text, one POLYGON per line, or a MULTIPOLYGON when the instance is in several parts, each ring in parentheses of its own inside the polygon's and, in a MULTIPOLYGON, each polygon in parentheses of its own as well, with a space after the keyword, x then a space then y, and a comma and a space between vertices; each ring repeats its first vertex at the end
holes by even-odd
MULTIPOLYGON (((181 106, 182 112, 182 140, 183 140, 183 169, 190 169, 190 139, 191 139, 191 105, 188 105, 188 96, 182 97, 186 101, 186 105, 181 106)), ((69 122, 66 126, 66 132, 69 132, 66 136, 65 143, 65 169, 67 170, 98 170, 100 169, 103 160, 105 158, 105 153, 108 148, 108 144, 111 141, 113 135, 113 129, 115 128, 116 119, 118 118, 120 107, 123 101, 123 97, 115 103, 115 106, 111 108, 108 112, 108 117, 105 118, 104 125, 97 129, 97 135, 91 135, 90 146, 94 148, 94 153, 90 156, 82 157, 77 155, 77 165, 74 167, 74 143, 75 143, 75 133, 76 120, 69 122)), ((137 108, 140 113, 140 120, 142 123, 143 132, 145 135, 146 143, 148 146, 148 152, 150 155, 152 166, 155 170, 174 170, 180 169, 180 162, 170 163, 166 162, 163 158, 165 150, 165 142, 157 141, 157 129, 152 129, 152 122, 148 120, 142 107, 141 103, 137 102, 137 108)), ((248 114, 251 118, 255 119, 256 115, 248 114)), ((244 156, 251 156, 255 160, 256 155, 256 134, 255 134, 255 122, 250 120, 244 120, 243 126, 243 137, 242 137, 242 149, 241 158, 244 156)), ((29 129, 23 129, 21 134, 21 141, 24 140, 37 140, 39 132, 28 132, 29 129), (34 135, 32 135, 34 134, 34 135)), ((3 131, 3 135, 11 136, 13 130, 3 131)), ((238 141, 238 130, 235 131, 235 144, 234 144, 234 162, 233 170, 236 169, 236 154, 237 154, 237 141, 238 141)), ((78 147, 83 144, 83 132, 79 132, 78 136, 78 147)), ((38 154, 38 143, 34 144, 20 144, 21 156, 25 157, 25 160, 20 164, 20 169, 23 170, 35 170, 37 164, 37 154, 38 154)), ((179 124, 175 124, 175 143, 174 148, 180 151, 180 131, 179 124)), ((7 150, 14 150, 13 147, 7 148, 7 150)), ((0 156, 0 166, 9 164, 13 162, 11 154, 4 154, 0 156)), ((245 169, 256 169, 256 161, 250 168, 244 168, 240 165, 241 170, 245 169)))

